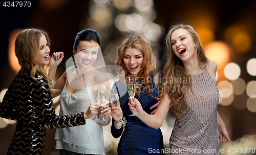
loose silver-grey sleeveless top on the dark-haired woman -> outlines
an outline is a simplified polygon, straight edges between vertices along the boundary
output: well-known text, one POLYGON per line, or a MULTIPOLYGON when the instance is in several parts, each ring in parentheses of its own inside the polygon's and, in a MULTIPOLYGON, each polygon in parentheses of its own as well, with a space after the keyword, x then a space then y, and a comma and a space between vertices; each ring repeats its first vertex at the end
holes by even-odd
MULTIPOLYGON (((91 103, 96 103, 91 91, 91 83, 80 92, 72 94, 66 90, 67 81, 60 94, 60 115, 86 112, 91 103)), ((83 154, 105 154, 102 126, 92 119, 87 119, 86 125, 57 129, 55 140, 56 149, 83 154)))

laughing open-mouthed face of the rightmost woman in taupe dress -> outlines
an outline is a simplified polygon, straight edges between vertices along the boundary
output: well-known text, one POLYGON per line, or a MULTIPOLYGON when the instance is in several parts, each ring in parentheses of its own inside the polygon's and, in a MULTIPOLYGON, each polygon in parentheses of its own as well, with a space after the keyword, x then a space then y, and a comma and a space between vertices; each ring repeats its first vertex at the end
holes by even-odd
POLYGON ((196 58, 196 43, 186 29, 177 29, 170 36, 172 49, 183 62, 196 58))

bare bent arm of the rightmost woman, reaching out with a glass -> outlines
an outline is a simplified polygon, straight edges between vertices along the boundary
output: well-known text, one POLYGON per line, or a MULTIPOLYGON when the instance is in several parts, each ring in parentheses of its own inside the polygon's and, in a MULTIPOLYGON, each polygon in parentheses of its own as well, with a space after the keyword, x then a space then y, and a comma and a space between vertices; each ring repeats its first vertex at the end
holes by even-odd
POLYGON ((140 102, 134 98, 129 98, 129 107, 131 110, 134 110, 136 114, 139 114, 137 117, 144 122, 147 126, 159 129, 165 120, 165 117, 169 111, 170 99, 167 94, 160 99, 160 103, 154 115, 148 115, 141 107, 140 102))

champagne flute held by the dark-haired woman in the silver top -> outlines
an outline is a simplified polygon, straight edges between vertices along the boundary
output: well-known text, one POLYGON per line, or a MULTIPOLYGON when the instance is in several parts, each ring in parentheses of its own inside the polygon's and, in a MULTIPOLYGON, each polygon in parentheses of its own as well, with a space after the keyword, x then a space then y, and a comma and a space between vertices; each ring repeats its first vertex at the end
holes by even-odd
MULTIPOLYGON (((109 95, 109 92, 108 92, 109 90, 108 90, 108 85, 106 85, 106 84, 102 84, 101 86, 100 86, 100 89, 99 89, 99 99, 100 99, 100 104, 101 105, 106 105, 106 102, 108 101, 108 95, 109 95)), ((104 114, 103 114, 103 118, 101 119, 101 120, 99 120, 98 121, 99 123, 105 123, 105 122, 110 122, 110 121, 108 121, 108 120, 106 120, 105 118, 104 118, 104 114)))

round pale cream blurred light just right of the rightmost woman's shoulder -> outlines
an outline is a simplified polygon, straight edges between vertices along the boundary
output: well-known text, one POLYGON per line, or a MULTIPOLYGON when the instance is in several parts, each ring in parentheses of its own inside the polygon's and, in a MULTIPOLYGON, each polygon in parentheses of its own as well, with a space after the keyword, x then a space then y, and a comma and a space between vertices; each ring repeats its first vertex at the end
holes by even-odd
POLYGON ((241 69, 237 63, 228 63, 224 68, 224 75, 229 80, 236 80, 241 74, 241 69))

